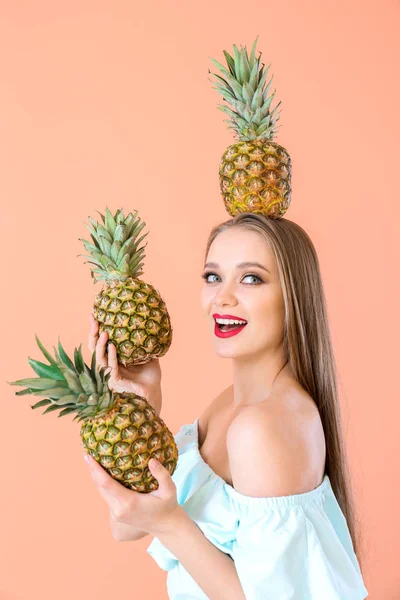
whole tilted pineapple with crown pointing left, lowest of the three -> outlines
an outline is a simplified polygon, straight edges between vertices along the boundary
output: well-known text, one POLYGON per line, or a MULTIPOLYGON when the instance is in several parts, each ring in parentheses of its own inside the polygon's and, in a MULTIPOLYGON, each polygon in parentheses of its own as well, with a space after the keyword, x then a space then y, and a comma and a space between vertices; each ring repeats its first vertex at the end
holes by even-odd
POLYGON ((59 417, 77 413, 73 420, 82 422, 80 435, 88 453, 119 483, 136 492, 158 489, 148 468, 156 458, 172 475, 178 461, 174 437, 155 409, 145 398, 109 389, 110 373, 96 367, 96 353, 89 368, 82 358, 81 346, 75 348, 72 361, 61 343, 55 358, 37 344, 49 364, 29 358, 38 375, 10 385, 24 386, 17 396, 42 396, 31 408, 47 406, 43 414, 60 410, 59 417))

